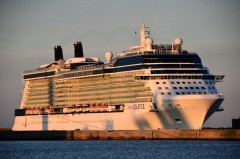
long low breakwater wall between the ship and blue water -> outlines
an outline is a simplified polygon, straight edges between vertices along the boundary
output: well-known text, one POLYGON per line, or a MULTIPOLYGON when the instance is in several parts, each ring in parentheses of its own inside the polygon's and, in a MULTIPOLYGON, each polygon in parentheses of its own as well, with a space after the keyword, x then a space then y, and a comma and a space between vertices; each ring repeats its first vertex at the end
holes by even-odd
POLYGON ((0 131, 0 141, 11 140, 240 140, 240 130, 0 131))

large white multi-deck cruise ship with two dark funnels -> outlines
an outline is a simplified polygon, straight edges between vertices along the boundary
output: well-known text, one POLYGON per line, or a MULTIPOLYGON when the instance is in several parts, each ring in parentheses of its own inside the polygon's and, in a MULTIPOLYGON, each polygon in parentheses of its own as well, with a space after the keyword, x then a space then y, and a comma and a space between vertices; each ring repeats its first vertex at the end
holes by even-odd
POLYGON ((15 110, 13 130, 158 130, 201 129, 224 100, 196 53, 182 49, 183 40, 154 44, 144 24, 140 43, 106 63, 85 57, 81 42, 74 57, 23 72, 25 87, 15 110))

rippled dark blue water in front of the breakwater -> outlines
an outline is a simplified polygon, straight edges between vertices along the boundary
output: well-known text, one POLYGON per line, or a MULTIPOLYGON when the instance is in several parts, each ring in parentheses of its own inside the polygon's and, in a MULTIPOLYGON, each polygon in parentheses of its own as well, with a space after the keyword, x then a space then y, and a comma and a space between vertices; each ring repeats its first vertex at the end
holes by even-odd
POLYGON ((0 159, 240 158, 240 141, 0 141, 0 159))

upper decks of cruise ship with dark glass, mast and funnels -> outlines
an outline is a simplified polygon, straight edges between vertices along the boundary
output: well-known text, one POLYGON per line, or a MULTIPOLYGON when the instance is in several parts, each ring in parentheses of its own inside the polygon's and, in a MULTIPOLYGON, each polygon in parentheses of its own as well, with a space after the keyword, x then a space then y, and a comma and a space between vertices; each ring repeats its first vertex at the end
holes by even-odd
MULTIPOLYGON (((42 65, 36 70, 25 71, 23 78, 61 79, 141 69, 153 69, 152 74, 209 74, 196 53, 182 50, 181 38, 176 38, 171 44, 154 44, 149 32, 148 27, 142 24, 140 45, 130 47, 114 58, 111 52, 107 52, 105 64, 99 58, 82 57, 82 52, 75 53, 78 54, 75 58, 63 60, 61 47, 55 47, 56 50, 60 49, 61 56, 57 56, 58 61, 42 65)), ((80 42, 75 45, 81 47, 80 42)), ((78 50, 82 51, 82 48, 78 50)))

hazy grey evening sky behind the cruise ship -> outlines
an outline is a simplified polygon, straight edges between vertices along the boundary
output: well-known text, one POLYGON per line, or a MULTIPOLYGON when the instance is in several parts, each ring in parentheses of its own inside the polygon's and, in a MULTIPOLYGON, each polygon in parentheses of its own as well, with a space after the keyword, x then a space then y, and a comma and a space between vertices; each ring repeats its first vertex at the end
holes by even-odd
POLYGON ((240 118, 239 0, 7 0, 0 1, 0 128, 12 127, 24 88, 22 72, 54 61, 61 45, 65 59, 81 41, 84 55, 100 57, 136 44, 144 22, 154 43, 183 39, 212 74, 226 75, 217 88, 223 112, 204 127, 231 127, 240 118))

